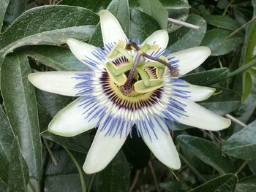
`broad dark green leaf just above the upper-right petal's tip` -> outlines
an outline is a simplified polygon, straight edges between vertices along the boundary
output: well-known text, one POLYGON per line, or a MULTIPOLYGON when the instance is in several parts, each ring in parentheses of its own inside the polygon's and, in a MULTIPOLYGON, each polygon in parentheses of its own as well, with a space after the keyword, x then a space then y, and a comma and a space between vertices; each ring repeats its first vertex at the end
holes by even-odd
POLYGON ((230 53, 243 42, 243 38, 238 34, 230 36, 231 32, 232 31, 224 29, 212 29, 207 31, 202 45, 208 46, 213 56, 230 53))

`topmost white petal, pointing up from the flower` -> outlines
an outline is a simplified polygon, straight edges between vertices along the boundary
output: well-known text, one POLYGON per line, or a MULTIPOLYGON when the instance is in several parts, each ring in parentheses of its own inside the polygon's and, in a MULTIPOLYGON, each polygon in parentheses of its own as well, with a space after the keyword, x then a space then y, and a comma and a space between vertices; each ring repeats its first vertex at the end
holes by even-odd
POLYGON ((124 34, 118 20, 111 12, 108 10, 102 10, 99 12, 99 18, 104 45, 118 42, 119 40, 127 40, 127 36, 124 34))

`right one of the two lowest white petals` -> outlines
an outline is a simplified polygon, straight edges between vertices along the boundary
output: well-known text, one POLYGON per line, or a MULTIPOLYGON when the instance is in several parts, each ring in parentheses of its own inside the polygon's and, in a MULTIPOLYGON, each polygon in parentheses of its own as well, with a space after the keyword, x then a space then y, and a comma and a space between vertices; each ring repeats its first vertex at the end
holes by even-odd
POLYGON ((155 157, 162 162, 162 164, 165 164, 170 169, 180 169, 181 161, 178 157, 178 152, 173 143, 173 139, 170 136, 170 131, 168 130, 167 126, 165 126, 165 124, 162 123, 161 120, 159 120, 159 118, 157 120, 161 124, 162 129, 164 129, 165 132, 162 131, 154 118, 151 118, 151 120, 154 125, 154 131, 157 135, 157 138, 154 137, 153 131, 148 128, 152 140, 150 139, 150 137, 148 137, 148 134, 143 133, 144 142, 151 150, 151 152, 155 155, 155 157))

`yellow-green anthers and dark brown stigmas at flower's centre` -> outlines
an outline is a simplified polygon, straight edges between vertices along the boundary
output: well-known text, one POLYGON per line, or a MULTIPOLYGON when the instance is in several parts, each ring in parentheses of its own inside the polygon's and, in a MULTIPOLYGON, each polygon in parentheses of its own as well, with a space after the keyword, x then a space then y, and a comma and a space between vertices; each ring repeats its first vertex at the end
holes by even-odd
POLYGON ((172 75, 178 75, 178 71, 167 64, 165 56, 154 58, 148 55, 158 50, 158 45, 137 45, 135 42, 124 41, 119 41, 113 47, 108 55, 109 62, 106 64, 106 71, 110 79, 118 85, 121 93, 132 95, 161 88, 167 67, 172 75), (154 69, 156 75, 148 74, 149 69, 154 69))

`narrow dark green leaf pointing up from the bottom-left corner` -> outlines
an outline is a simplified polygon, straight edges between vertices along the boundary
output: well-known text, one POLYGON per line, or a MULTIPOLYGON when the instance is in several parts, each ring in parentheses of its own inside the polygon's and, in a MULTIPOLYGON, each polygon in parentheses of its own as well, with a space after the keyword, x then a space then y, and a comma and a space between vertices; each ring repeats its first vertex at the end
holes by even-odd
POLYGON ((12 154, 9 166, 8 188, 10 192, 27 191, 26 184, 29 179, 29 170, 20 151, 18 137, 12 142, 12 154))

